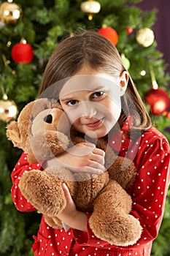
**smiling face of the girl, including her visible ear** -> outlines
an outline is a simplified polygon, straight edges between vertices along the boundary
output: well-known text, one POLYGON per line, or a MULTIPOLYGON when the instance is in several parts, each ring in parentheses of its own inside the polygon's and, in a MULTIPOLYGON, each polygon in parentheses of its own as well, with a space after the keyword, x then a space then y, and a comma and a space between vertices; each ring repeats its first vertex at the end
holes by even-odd
POLYGON ((78 132, 90 138, 104 137, 120 117, 120 97, 127 83, 127 72, 112 77, 83 67, 63 85, 61 106, 78 132))

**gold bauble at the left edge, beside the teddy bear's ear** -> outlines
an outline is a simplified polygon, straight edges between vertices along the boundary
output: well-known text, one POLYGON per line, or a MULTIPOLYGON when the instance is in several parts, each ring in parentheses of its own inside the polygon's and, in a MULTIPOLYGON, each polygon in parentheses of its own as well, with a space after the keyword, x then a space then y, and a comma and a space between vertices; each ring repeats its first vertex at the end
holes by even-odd
POLYGON ((17 114, 17 105, 12 99, 7 98, 7 94, 4 94, 3 99, 0 99, 0 120, 8 122, 11 119, 15 119, 17 114))

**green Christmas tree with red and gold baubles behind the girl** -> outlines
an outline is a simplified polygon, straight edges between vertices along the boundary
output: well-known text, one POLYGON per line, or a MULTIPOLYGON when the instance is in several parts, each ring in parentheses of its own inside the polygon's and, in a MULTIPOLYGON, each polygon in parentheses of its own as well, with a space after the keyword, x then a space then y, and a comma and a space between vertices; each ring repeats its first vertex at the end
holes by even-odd
MULTIPOLYGON (((20 213, 12 203, 10 174, 20 154, 5 135, 7 122, 36 98, 42 74, 58 42, 77 29, 102 29, 112 39, 131 74, 153 124, 170 141, 170 75, 156 47, 152 26, 157 10, 144 12, 142 0, 98 0, 90 10, 82 0, 0 2, 0 255, 32 255, 31 236, 41 214, 20 213), (99 5, 100 4, 100 5, 99 5), (98 10, 97 10, 98 8, 98 10)), ((93 3, 94 4, 94 3, 93 3)), ((170 195, 152 255, 170 253, 170 195)))

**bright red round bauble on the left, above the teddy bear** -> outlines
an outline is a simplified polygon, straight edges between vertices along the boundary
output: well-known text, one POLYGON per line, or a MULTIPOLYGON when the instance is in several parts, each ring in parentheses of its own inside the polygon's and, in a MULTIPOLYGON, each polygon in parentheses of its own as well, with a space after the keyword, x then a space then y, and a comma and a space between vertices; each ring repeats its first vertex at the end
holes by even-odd
POLYGON ((12 59, 20 64, 28 64, 34 58, 34 52, 28 43, 18 42, 12 48, 12 59))

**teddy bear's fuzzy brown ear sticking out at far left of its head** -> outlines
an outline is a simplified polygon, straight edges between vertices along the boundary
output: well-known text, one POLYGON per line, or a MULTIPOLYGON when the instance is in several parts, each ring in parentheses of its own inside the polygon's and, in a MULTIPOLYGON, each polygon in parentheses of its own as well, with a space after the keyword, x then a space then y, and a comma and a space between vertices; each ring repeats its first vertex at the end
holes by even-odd
POLYGON ((12 121, 11 123, 7 124, 6 135, 8 140, 11 140, 14 146, 20 148, 20 131, 16 121, 12 121))

